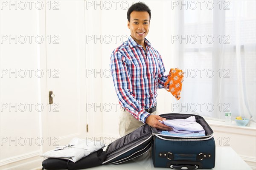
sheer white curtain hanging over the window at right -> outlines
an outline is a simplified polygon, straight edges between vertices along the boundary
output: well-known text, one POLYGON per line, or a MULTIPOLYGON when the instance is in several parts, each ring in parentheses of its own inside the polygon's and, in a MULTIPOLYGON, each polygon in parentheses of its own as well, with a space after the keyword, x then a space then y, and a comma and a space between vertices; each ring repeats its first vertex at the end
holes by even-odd
POLYGON ((199 1, 176 2, 170 5, 176 10, 178 34, 167 43, 178 45, 185 75, 182 98, 172 111, 216 119, 231 112, 233 118, 255 122, 255 1, 204 1, 201 6, 199 1))

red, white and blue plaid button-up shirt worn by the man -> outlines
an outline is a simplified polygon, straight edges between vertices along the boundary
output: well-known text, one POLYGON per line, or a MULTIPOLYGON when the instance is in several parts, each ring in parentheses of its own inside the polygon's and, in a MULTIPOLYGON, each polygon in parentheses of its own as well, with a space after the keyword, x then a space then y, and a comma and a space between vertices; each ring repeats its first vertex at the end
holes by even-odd
POLYGON ((130 36, 112 52, 110 64, 119 104, 143 123, 150 116, 144 109, 156 105, 157 89, 167 78, 161 55, 144 41, 146 52, 130 36))

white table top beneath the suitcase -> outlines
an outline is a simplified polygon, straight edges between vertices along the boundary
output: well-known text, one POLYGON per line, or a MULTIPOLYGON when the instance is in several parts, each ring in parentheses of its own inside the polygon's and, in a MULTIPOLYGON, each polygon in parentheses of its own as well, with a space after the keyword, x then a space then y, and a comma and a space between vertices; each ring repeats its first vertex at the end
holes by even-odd
MULTIPOLYGON (((141 161, 126 161, 121 164, 105 164, 84 170, 165 170, 167 168, 154 167, 152 159, 141 161)), ((201 169, 204 170, 204 169, 201 169)), ((209 170, 209 169, 205 169, 209 170)), ((216 147, 215 167, 213 170, 251 170, 251 167, 231 148, 216 147)))

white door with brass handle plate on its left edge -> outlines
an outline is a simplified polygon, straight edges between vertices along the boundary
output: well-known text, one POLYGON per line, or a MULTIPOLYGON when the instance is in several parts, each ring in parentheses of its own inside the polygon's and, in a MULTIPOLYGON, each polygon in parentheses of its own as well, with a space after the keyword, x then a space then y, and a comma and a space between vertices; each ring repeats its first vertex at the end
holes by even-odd
POLYGON ((43 152, 86 137, 84 1, 46 2, 47 92, 53 103, 42 116, 43 152))

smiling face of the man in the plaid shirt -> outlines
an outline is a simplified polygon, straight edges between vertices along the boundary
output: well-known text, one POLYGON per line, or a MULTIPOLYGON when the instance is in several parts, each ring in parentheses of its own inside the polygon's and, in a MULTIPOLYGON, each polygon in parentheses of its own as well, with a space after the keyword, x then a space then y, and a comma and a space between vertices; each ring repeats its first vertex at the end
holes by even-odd
POLYGON ((149 31, 149 14, 147 11, 132 11, 128 28, 131 30, 131 37, 137 42, 143 42, 149 31))

